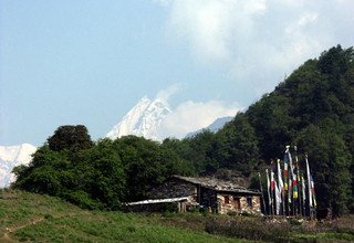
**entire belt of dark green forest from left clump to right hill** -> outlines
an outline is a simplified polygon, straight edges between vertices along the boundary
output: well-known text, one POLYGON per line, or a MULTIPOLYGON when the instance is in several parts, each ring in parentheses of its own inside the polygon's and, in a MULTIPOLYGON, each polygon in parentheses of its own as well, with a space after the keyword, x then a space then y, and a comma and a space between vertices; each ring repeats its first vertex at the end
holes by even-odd
MULTIPOLYGON (((319 208, 354 212, 354 51, 337 45, 309 60, 221 130, 155 142, 127 136, 92 141, 82 126, 59 127, 14 188, 64 198, 83 208, 115 210, 144 199, 175 173, 235 171, 252 178, 285 145, 306 152, 319 208)), ((304 169, 304 158, 300 166, 304 169)))

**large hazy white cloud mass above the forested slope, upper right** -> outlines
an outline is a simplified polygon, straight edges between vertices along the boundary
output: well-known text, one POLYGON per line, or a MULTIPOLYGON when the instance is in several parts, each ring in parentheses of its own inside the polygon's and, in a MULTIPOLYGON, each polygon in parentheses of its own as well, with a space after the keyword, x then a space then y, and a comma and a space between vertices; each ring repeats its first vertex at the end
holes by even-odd
MULTIPOLYGON (((353 44, 352 0, 159 0, 167 36, 187 44, 205 65, 221 63, 228 77, 269 92, 308 59, 353 44)), ((257 91, 258 92, 258 91, 257 91)))

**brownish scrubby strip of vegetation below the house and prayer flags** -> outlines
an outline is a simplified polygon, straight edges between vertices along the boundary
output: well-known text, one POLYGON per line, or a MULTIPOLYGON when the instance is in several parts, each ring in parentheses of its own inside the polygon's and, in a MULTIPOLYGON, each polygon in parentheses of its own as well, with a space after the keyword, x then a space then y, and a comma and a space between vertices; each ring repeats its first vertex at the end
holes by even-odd
POLYGON ((209 233, 269 242, 354 242, 354 215, 332 221, 221 218, 206 223, 209 233))

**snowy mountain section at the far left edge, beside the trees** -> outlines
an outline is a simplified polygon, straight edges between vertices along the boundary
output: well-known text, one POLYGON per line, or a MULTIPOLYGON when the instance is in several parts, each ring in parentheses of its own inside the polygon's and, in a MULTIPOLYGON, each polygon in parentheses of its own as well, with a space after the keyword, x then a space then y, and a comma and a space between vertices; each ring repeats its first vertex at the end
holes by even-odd
POLYGON ((0 188, 9 187, 14 181, 13 167, 28 165, 37 148, 30 144, 0 146, 0 188))

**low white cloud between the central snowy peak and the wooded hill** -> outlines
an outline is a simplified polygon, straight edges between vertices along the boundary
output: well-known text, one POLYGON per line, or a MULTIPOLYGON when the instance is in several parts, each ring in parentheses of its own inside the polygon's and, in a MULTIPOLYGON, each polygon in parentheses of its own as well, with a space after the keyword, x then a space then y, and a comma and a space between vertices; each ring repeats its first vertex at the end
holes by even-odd
POLYGON ((239 109, 227 106, 220 101, 184 102, 169 114, 159 127, 159 137, 183 138, 190 131, 209 126, 219 117, 235 116, 239 109))

